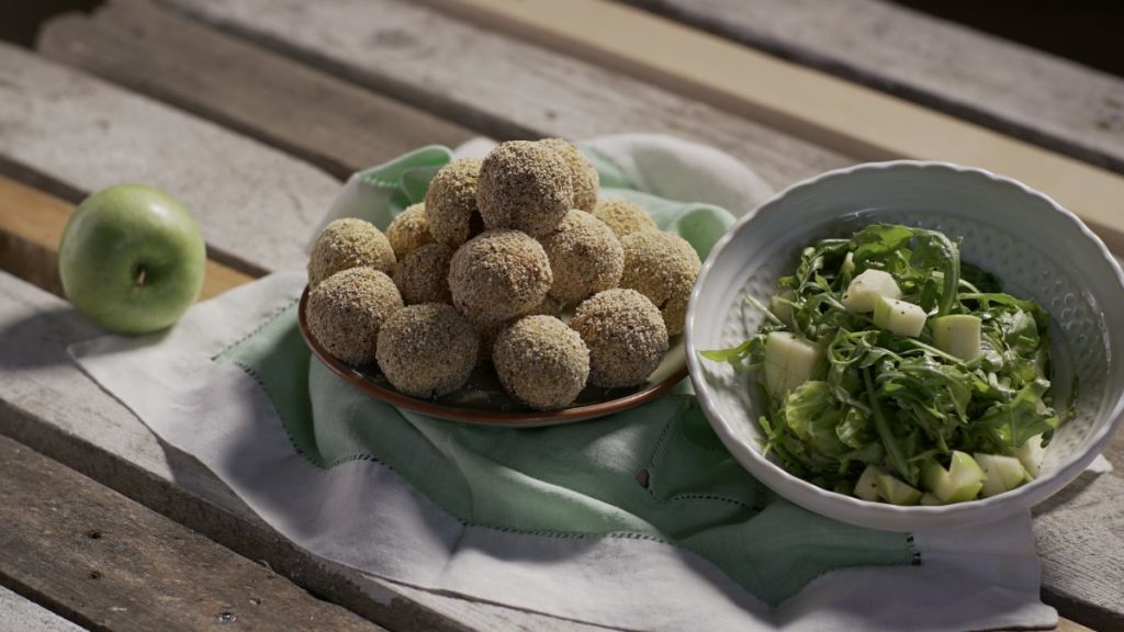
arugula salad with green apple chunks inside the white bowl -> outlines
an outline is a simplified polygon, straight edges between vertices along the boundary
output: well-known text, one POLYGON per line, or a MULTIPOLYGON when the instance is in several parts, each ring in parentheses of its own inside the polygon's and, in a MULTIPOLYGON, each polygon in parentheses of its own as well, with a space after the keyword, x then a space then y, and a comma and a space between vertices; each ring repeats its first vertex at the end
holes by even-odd
MULTIPOLYGON (((940 232, 879 224, 806 247, 755 335, 708 360, 755 371, 763 451, 819 487, 897 505, 1036 477, 1061 422, 1050 316, 940 232)), ((1076 385, 1075 385, 1076 387, 1076 385)), ((1071 409, 1076 388, 1070 392, 1071 409)))

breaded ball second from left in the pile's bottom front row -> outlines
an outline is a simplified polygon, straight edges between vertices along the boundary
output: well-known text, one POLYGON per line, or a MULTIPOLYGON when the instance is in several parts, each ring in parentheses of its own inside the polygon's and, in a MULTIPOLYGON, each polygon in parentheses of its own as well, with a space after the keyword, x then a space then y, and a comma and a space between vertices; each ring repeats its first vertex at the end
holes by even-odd
POLYGON ((439 397, 469 379, 477 333, 452 305, 427 303, 396 312, 379 331, 379 369, 411 397, 439 397))

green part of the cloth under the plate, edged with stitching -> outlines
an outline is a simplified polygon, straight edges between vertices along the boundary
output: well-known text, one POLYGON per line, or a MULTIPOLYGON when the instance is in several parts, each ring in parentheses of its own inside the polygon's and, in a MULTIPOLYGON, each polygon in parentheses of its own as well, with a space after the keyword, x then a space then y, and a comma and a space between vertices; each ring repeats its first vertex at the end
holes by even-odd
MULTIPOLYGON (((733 222, 713 205, 636 190, 606 156, 589 155, 604 196, 643 205, 704 259, 733 222)), ((384 228, 424 198, 451 156, 426 147, 363 172, 363 182, 382 196, 364 198, 364 208, 351 214, 384 228)), ((216 360, 261 383, 293 448, 317 467, 380 461, 464 524, 668 542, 773 606, 833 569, 915 561, 908 534, 818 516, 753 479, 710 430, 686 380, 661 399, 589 422, 529 430, 453 423, 370 398, 310 360, 294 304, 216 360)))

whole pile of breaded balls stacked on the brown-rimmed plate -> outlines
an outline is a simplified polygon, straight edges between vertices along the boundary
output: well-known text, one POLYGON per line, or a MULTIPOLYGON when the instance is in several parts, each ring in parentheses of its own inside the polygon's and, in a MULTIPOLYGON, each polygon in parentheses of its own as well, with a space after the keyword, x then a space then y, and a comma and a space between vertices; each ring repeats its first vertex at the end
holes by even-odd
POLYGON ((641 206, 598 192, 597 170, 561 138, 454 161, 386 233, 328 224, 308 263, 308 327, 413 397, 488 367, 538 410, 587 386, 644 383, 683 331, 701 262, 641 206))

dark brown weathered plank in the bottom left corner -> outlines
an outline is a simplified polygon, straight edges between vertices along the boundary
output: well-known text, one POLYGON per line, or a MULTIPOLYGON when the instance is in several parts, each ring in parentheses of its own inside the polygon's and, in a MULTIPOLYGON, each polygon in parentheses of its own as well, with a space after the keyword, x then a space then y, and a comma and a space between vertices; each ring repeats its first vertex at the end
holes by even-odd
POLYGON ((383 630, 0 437, 0 578, 115 632, 383 630))

